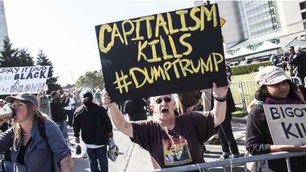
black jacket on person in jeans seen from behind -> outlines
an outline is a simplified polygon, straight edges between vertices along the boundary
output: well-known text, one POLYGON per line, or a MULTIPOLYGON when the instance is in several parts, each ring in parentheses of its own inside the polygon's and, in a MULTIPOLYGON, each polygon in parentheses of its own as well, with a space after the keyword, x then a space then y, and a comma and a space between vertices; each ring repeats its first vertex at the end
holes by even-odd
POLYGON ((108 135, 113 129, 113 125, 102 106, 95 103, 83 104, 77 108, 73 127, 75 137, 81 137, 85 144, 107 145, 108 135))

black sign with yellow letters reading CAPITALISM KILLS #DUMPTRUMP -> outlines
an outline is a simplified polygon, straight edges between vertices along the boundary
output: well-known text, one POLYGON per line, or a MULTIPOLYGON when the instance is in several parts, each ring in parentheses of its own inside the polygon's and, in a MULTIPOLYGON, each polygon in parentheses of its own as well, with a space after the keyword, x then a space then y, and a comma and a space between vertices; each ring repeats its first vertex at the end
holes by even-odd
POLYGON ((97 25, 112 101, 226 86, 217 4, 97 25))

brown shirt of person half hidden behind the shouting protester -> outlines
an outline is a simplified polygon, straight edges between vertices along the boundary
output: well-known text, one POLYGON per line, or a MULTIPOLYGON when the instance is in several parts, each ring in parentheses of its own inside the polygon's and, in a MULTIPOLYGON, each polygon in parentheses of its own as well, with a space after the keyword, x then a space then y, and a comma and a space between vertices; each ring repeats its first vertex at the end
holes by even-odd
MULTIPOLYGON (((190 91, 185 93, 178 93, 178 113, 179 115, 186 113, 186 109, 200 99, 201 95, 198 91, 190 91)), ((193 111, 195 108, 193 108, 193 111)))

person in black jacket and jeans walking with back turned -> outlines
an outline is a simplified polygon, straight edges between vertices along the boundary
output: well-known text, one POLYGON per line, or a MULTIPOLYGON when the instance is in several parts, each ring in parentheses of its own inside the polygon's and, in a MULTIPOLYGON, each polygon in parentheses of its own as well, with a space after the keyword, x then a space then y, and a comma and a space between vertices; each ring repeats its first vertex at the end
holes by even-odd
POLYGON ((77 108, 73 121, 76 143, 79 143, 79 132, 81 130, 81 137, 88 154, 90 171, 108 172, 106 145, 108 138, 112 137, 113 126, 105 109, 93 102, 93 95, 90 92, 83 95, 83 103, 77 108))

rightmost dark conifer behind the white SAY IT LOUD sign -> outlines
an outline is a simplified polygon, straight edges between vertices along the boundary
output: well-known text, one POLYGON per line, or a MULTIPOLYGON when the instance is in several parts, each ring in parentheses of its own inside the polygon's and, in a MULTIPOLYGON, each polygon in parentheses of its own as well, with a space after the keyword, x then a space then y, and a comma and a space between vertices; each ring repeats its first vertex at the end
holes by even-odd
POLYGON ((48 84, 48 91, 47 94, 51 94, 52 91, 56 90, 62 90, 62 87, 57 84, 58 77, 53 76, 53 64, 49 60, 48 56, 45 54, 45 52, 42 49, 39 49, 38 55, 36 58, 36 65, 37 66, 49 66, 49 73, 47 78, 47 84, 48 84))

